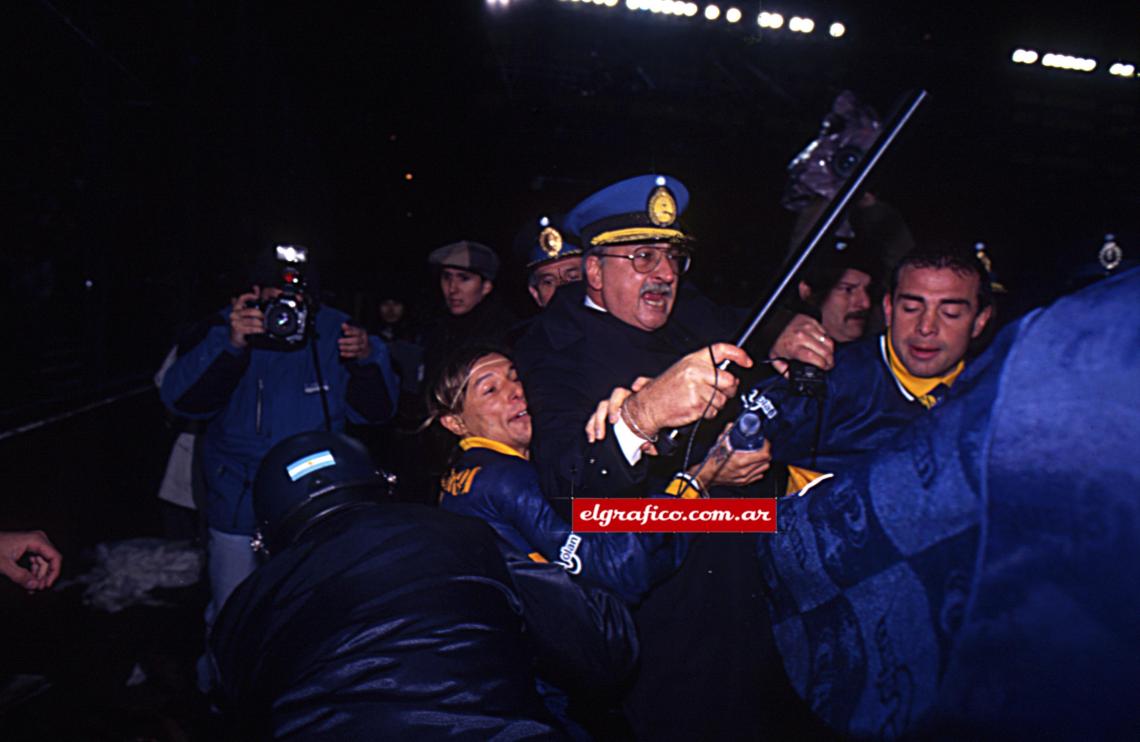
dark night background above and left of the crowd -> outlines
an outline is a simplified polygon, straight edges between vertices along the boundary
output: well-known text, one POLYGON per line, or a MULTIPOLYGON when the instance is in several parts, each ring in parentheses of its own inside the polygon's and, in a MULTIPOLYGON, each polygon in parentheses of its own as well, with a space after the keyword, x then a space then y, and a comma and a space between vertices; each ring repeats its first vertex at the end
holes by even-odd
MULTIPOLYGON (((930 91, 873 187, 920 242, 987 244, 1004 319, 1060 292, 1107 231, 1140 255, 1140 79, 1107 73, 1140 62, 1135 2, 765 3, 813 17, 811 36, 759 33, 757 2, 735 25, 497 5, 6 6, 0 529, 46 530, 65 579, 98 541, 161 532, 173 433, 150 378, 275 240, 309 245, 331 303, 365 319, 385 284, 435 311, 426 254, 478 239, 507 258, 497 291, 527 312, 521 228, 660 171, 693 194, 693 278, 754 303, 795 219, 784 169, 845 88, 882 115, 930 91), (1099 65, 1012 64, 1023 47, 1099 65)), ((0 736, 219 737, 190 680, 201 585, 108 615, 75 589, 2 582, 0 686, 51 690, 0 702, 0 736), (149 679, 128 686, 136 667, 149 679)))

